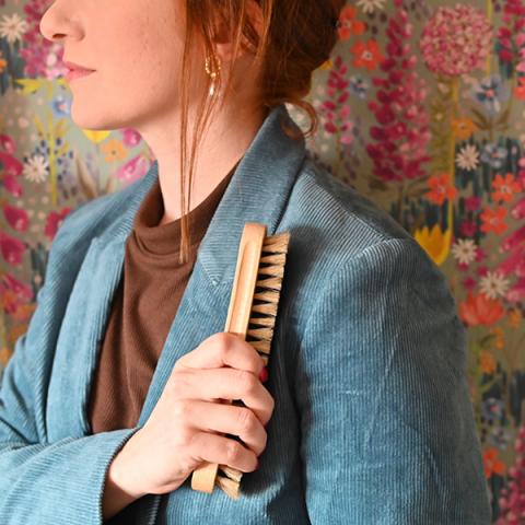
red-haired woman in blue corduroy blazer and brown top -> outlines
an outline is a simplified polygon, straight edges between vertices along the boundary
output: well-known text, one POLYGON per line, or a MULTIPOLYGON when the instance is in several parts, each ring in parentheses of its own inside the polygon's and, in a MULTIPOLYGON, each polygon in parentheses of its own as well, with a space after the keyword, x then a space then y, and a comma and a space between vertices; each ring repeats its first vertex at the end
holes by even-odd
POLYGON ((446 281, 310 158, 284 105, 315 117, 301 97, 341 7, 57 0, 44 15, 93 70, 71 80, 73 120, 138 129, 155 162, 54 241, 0 390, 0 523, 490 522, 446 281), (268 372, 222 332, 252 221, 291 233, 268 372), (238 501, 191 490, 203 460, 246 472, 238 501))

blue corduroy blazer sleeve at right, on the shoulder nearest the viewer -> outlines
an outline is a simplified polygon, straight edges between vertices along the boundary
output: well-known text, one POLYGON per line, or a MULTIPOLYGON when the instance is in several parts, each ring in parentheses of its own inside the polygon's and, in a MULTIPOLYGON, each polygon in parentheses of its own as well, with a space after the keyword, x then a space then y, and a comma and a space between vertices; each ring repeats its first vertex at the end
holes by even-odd
POLYGON ((295 383, 312 524, 490 524, 466 331, 438 266, 381 241, 312 307, 295 383))

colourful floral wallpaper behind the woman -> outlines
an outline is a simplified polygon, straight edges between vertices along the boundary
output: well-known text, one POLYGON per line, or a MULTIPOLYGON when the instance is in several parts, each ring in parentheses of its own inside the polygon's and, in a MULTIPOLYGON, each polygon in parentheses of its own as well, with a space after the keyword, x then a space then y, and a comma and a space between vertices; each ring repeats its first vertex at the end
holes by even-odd
MULTIPOLYGON (((38 31, 48 4, 0 0, 0 378, 60 221, 153 161, 132 129, 71 121, 61 49, 38 31)), ((493 522, 524 523, 525 0, 357 0, 340 21, 308 148, 447 277, 493 522)))

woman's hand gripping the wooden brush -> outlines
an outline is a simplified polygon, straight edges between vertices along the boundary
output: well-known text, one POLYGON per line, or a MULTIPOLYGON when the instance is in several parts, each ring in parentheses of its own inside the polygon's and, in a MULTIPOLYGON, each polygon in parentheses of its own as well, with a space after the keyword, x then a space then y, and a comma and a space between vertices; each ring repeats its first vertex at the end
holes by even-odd
POLYGON ((176 490, 202 462, 255 470, 275 406, 259 380, 262 369, 255 349, 228 332, 183 355, 150 418, 112 464, 116 478, 126 478, 128 493, 176 490), (242 399, 246 407, 222 399, 242 399), (246 446, 219 432, 237 435, 246 446))

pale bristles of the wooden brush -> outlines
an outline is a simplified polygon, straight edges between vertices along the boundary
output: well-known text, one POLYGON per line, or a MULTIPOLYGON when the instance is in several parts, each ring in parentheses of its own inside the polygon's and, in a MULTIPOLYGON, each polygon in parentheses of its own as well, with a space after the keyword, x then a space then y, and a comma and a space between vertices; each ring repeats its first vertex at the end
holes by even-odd
MULTIPOLYGON (((247 342, 259 352, 265 366, 268 364, 268 355, 273 337, 289 241, 289 232, 266 237, 262 243, 260 264, 257 270, 256 289, 258 291, 254 293, 250 314, 258 314, 258 316, 250 316, 248 323, 250 326, 246 331, 246 337, 255 339, 247 339, 247 342), (256 302, 258 303, 255 304, 256 302)), ((230 498, 237 500, 240 498, 243 472, 228 465, 219 465, 219 469, 224 476, 218 474, 215 485, 230 498)))

